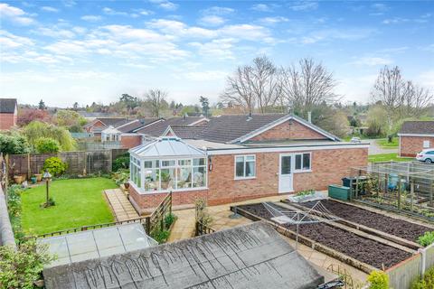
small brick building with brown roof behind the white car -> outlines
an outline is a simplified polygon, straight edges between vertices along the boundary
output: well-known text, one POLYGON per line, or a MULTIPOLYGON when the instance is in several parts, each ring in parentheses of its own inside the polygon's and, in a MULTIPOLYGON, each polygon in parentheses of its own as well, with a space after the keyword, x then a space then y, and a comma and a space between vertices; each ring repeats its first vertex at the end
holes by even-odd
POLYGON ((400 156, 416 156, 423 149, 434 147, 434 120, 406 121, 398 136, 400 156))

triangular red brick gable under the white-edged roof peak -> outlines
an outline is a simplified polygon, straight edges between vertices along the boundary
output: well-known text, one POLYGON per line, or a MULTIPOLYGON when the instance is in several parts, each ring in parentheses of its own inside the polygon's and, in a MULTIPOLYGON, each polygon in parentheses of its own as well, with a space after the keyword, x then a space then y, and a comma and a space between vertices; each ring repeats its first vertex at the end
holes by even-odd
POLYGON ((285 139, 326 139, 324 135, 300 124, 295 120, 288 120, 283 124, 274 126, 260 135, 250 138, 249 141, 285 140, 285 139))

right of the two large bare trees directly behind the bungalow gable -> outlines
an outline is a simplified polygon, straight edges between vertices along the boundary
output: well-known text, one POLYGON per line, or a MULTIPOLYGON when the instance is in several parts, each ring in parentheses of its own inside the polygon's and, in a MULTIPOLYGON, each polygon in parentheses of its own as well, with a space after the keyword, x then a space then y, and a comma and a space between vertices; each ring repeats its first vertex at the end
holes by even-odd
POLYGON ((335 102, 333 92, 336 81, 322 63, 301 59, 298 66, 292 64, 282 70, 282 97, 297 114, 307 117, 307 112, 322 104, 335 102))

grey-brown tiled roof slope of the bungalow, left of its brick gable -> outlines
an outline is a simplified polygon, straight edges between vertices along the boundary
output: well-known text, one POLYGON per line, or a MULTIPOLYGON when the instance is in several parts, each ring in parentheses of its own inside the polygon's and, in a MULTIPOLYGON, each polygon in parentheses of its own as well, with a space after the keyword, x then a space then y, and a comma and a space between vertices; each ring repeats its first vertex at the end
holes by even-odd
POLYGON ((197 137, 211 142, 227 143, 267 126, 285 114, 222 115, 212 117, 208 126, 197 137))

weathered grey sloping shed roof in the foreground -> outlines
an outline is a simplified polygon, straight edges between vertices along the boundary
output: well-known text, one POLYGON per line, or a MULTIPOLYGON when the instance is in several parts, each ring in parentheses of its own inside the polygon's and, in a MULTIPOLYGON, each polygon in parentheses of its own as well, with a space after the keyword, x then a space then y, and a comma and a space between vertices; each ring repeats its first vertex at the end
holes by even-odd
POLYGON ((316 288, 324 276, 265 222, 43 270, 47 289, 316 288))

